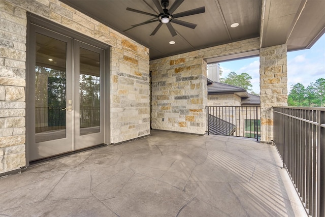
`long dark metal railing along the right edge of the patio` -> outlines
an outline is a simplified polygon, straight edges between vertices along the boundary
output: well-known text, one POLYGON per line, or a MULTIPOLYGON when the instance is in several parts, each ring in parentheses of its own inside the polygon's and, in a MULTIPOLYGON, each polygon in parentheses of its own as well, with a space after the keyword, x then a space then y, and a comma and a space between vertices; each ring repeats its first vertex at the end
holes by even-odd
POLYGON ((308 215, 325 216, 325 108, 274 107, 274 143, 308 215))

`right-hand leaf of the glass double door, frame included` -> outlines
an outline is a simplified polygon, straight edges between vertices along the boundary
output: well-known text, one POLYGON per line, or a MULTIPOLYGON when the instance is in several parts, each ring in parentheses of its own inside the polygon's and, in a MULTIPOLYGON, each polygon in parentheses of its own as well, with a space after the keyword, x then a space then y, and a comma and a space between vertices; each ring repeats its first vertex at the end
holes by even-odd
POLYGON ((104 143, 104 50, 75 43, 75 148, 104 143))

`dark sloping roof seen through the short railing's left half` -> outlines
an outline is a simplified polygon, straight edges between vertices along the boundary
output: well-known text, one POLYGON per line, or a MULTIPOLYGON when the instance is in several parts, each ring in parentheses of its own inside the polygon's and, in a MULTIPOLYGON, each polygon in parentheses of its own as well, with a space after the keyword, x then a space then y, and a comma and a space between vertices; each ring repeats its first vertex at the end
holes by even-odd
POLYGON ((222 120, 212 114, 209 114, 209 133, 216 135, 232 135, 236 131, 236 126, 232 123, 222 120))

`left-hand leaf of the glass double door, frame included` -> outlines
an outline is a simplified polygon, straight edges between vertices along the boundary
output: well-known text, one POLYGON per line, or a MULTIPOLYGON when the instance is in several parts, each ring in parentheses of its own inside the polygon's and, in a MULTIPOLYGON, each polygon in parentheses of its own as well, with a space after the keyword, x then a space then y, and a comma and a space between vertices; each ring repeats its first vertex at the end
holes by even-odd
POLYGON ((72 39, 31 24, 28 65, 29 160, 73 150, 72 39))

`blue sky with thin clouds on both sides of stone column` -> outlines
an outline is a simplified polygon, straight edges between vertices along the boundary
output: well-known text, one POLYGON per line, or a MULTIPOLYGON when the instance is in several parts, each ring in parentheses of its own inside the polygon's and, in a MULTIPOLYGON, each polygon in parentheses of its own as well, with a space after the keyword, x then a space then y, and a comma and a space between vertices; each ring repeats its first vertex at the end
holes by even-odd
MULTIPOLYGON (((223 78, 232 71, 246 72, 252 77, 253 91, 259 93, 259 57, 222 62, 220 68, 223 78)), ((307 87, 318 78, 325 78, 325 34, 310 49, 288 52, 287 71, 288 92, 298 82, 307 87)))

